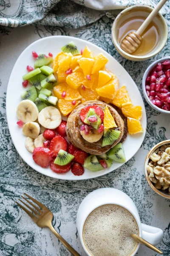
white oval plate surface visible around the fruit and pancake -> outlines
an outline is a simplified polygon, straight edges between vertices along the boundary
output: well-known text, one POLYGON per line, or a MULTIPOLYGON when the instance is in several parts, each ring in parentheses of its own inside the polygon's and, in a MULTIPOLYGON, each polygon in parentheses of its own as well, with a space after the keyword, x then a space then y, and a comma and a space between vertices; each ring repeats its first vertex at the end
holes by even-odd
POLYGON ((71 171, 64 173, 64 174, 57 174, 51 171, 50 168, 45 169, 38 166, 34 163, 32 159, 32 154, 26 150, 25 147, 25 139, 26 137, 22 133, 22 128, 19 128, 17 125, 17 105, 21 101, 20 94, 23 92, 24 88, 22 86, 22 76, 27 73, 26 66, 31 65, 34 66, 34 59, 32 58, 32 51, 40 53, 48 54, 48 52, 52 52, 54 56, 57 55, 58 52, 61 51, 61 47, 65 44, 68 44, 70 41, 74 41, 77 45, 78 49, 84 49, 86 45, 93 51, 94 55, 99 54, 102 52, 108 58, 108 64, 106 67, 111 70, 119 79, 120 87, 123 84, 126 85, 128 93, 130 95, 130 99, 132 100, 134 105, 141 105, 143 109, 142 113, 142 127, 144 132, 141 134, 135 135, 127 135, 127 139, 125 143, 123 143, 125 149, 125 156, 126 160, 130 160, 131 157, 139 150, 145 136, 146 132, 146 111, 144 108, 144 103, 142 100, 142 96, 127 71, 116 61, 108 52, 105 52, 103 49, 97 47, 96 45, 74 37, 68 36, 50 36, 46 38, 42 38, 40 40, 35 41, 31 45, 29 45, 19 56, 17 59, 14 68, 12 70, 9 82, 8 82, 8 89, 7 89, 7 96, 6 96, 6 114, 7 114, 7 121, 8 127, 11 134, 12 141, 14 143, 15 148, 17 149, 20 156, 23 160, 31 166, 37 172, 40 172, 44 175, 49 177, 54 177, 57 179, 62 180, 85 180, 94 177, 99 177, 101 175, 105 175, 108 172, 112 172, 113 170, 119 168, 123 165, 123 163, 113 163, 111 168, 104 169, 99 172, 91 172, 85 169, 85 173, 82 176, 75 176, 72 174, 71 171))

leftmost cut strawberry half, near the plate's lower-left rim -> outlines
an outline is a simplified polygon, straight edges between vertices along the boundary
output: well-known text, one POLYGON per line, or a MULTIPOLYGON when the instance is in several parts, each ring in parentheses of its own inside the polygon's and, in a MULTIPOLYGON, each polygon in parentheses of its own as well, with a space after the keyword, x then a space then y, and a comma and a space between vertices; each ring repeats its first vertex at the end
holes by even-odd
POLYGON ((53 160, 51 151, 43 147, 34 148, 32 157, 34 162, 43 168, 48 167, 53 160))

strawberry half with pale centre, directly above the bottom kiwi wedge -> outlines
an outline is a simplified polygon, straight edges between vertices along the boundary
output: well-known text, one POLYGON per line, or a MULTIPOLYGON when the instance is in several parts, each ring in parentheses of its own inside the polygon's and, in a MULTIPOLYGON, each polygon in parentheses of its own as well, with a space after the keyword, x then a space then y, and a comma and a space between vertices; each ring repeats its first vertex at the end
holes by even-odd
POLYGON ((49 149, 53 153, 54 157, 57 156, 60 149, 67 151, 67 141, 64 137, 60 135, 56 135, 50 143, 49 149))

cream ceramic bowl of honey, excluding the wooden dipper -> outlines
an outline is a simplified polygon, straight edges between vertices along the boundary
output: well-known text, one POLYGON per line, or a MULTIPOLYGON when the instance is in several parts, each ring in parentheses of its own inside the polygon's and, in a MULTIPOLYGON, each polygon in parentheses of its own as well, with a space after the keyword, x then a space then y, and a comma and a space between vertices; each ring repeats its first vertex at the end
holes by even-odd
POLYGON ((128 54, 120 47, 122 39, 130 32, 136 32, 152 10, 150 6, 131 6, 120 12, 114 20, 111 29, 112 41, 123 57, 131 61, 144 61, 158 54, 165 46, 168 27, 164 17, 159 13, 142 33, 142 43, 133 54, 128 54))

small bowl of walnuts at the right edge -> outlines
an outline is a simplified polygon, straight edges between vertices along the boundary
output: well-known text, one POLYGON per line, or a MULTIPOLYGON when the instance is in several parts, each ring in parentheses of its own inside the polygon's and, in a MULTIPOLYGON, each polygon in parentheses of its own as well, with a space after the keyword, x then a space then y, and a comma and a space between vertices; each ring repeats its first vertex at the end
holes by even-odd
POLYGON ((144 174, 150 187, 170 199, 170 140, 164 140, 150 149, 144 162, 144 174))

